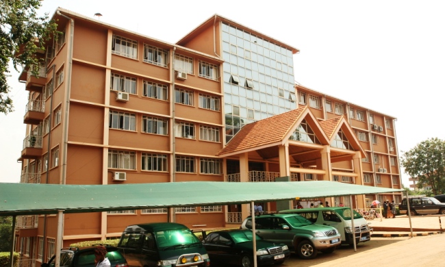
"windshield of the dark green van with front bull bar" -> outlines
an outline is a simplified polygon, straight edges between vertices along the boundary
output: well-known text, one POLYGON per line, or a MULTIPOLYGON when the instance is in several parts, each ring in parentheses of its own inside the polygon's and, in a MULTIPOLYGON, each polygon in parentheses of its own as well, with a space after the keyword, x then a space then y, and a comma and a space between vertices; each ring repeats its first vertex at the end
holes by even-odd
POLYGON ((155 238, 159 248, 201 244, 189 229, 159 231, 155 233, 155 238))

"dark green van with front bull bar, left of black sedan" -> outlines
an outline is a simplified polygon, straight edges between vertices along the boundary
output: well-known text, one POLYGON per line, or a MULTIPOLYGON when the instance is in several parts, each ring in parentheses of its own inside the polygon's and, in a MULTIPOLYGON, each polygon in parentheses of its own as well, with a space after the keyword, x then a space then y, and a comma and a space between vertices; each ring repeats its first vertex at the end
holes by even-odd
POLYGON ((120 236, 118 249, 129 266, 210 266, 203 244, 179 223, 129 225, 120 236))

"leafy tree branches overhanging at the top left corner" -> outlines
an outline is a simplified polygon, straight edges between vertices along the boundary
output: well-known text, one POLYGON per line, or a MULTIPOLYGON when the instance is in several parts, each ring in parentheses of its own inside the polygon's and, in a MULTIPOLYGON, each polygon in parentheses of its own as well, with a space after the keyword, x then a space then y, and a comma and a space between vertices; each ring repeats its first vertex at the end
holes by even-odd
MULTIPOLYGON (((48 14, 38 16, 42 0, 0 1, 0 113, 12 112, 12 99, 8 96, 10 86, 10 62, 18 66, 38 64, 36 51, 44 50, 44 41, 55 32, 56 25, 49 21, 48 14)), ((34 75, 37 74, 33 73, 34 75)))

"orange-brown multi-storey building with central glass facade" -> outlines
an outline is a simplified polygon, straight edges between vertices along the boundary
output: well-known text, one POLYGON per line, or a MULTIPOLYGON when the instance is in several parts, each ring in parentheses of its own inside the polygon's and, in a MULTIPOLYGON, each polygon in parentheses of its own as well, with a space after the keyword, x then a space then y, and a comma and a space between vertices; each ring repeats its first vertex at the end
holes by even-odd
MULTIPOLYGON (((61 8, 54 18, 61 34, 20 77, 29 90, 23 183, 287 177, 401 188, 394 118, 295 84, 298 49, 288 44, 218 15, 176 44, 61 8)), ((323 201, 365 207, 388 197, 400 198, 323 201)), ((247 205, 64 214, 62 246, 116 238, 135 223, 217 228, 247 214, 247 205)), ((56 224, 18 218, 16 251, 47 262, 56 224)))

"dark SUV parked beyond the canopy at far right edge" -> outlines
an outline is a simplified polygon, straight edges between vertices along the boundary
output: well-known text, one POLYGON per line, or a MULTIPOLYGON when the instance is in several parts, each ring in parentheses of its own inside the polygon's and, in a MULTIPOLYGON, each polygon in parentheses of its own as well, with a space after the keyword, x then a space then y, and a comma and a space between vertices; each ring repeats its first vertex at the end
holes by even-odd
MULTIPOLYGON (((401 214, 408 214, 407 199, 398 205, 401 214)), ((418 214, 445 214, 445 203, 432 196, 409 196, 409 211, 411 216, 418 214)))

